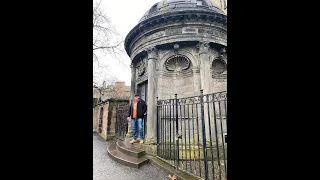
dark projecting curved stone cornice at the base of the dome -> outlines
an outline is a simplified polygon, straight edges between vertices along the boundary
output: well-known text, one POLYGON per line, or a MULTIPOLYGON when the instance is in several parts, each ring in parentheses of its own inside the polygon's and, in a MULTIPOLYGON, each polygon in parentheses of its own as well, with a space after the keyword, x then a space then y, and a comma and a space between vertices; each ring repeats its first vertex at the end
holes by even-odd
POLYGON ((132 41, 139 36, 139 34, 147 31, 148 29, 156 28, 157 26, 162 26, 164 24, 168 23, 174 23, 174 22, 212 22, 212 23, 218 23, 221 24, 226 28, 227 26, 227 16, 223 14, 219 14, 216 12, 213 12, 211 10, 199 10, 199 9, 193 9, 193 10, 183 10, 183 11, 176 11, 176 12, 169 12, 169 13, 162 13, 160 15, 156 15, 153 17, 150 17, 146 19, 145 21, 142 21, 138 25, 136 25, 127 35, 125 39, 125 49, 128 53, 128 55, 131 55, 131 47, 130 44, 132 44, 132 41))

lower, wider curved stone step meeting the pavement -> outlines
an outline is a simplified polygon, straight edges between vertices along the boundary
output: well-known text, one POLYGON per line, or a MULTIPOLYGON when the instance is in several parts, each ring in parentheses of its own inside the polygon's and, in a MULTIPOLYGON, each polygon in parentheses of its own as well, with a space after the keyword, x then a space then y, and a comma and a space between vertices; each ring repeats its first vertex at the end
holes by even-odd
POLYGON ((114 161, 123 164, 125 166, 133 167, 133 168, 140 168, 142 165, 149 162, 147 157, 132 157, 123 152, 119 151, 117 148, 117 143, 111 143, 108 148, 108 155, 114 161))

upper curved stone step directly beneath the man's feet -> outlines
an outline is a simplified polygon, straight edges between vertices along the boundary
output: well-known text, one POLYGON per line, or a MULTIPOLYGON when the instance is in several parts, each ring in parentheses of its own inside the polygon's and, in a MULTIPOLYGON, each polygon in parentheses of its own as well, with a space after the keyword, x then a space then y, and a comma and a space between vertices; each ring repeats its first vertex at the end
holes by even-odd
POLYGON ((146 154, 144 150, 137 149, 134 145, 130 144, 129 142, 117 141, 116 144, 119 151, 129 156, 140 158, 146 154))

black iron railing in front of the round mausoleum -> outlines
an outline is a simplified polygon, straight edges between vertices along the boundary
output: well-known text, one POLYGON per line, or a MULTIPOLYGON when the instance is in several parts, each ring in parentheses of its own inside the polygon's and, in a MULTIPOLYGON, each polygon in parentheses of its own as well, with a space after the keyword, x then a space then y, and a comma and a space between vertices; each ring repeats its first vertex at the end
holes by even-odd
POLYGON ((206 180, 227 179, 227 92, 157 99, 157 156, 206 180))

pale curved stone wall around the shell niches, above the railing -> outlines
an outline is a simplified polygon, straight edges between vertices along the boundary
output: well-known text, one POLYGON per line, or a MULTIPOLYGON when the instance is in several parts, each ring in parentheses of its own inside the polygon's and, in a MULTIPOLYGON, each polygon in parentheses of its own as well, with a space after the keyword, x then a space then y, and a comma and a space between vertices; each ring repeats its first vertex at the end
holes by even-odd
MULTIPOLYGON (((213 61, 219 56, 218 51, 219 50, 213 47, 209 48, 208 50, 211 69, 213 61)), ((203 71, 203 69, 199 67, 200 63, 201 60, 199 59, 199 55, 196 51, 195 46, 181 48, 176 52, 173 52, 173 50, 159 50, 159 71, 157 74, 157 93, 159 99, 172 99, 174 98, 174 94, 178 94, 178 98, 199 95, 201 89, 201 81, 204 81, 204 79, 197 78, 197 76, 200 75, 200 71, 203 71), (182 71, 178 73, 172 73, 165 68, 165 61, 170 56, 176 54, 184 55, 190 59, 191 65, 189 69, 185 70, 184 72, 182 71)), ((213 72, 210 73, 211 78, 209 79, 209 81, 204 82, 209 84, 209 92, 213 93, 227 91, 227 71, 225 71, 220 76, 214 76, 212 74, 213 72)))

